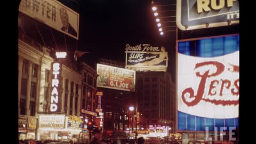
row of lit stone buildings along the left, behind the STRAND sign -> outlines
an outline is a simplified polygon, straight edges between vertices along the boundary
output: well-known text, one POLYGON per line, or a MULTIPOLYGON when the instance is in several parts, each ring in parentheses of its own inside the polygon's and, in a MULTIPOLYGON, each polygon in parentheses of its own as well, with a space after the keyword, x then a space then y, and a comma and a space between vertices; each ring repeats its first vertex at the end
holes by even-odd
POLYGON ((86 115, 96 114, 96 70, 84 62, 79 62, 83 65, 77 69, 70 59, 57 61, 54 49, 36 43, 22 31, 19 31, 18 47, 19 140, 79 138, 83 128, 86 130, 86 115), (58 73, 54 63, 59 63, 58 73), (53 99, 53 93, 58 94, 57 99, 53 99), (55 101, 60 108, 58 113, 51 106, 55 101), (91 113, 84 114, 81 109, 91 113))

